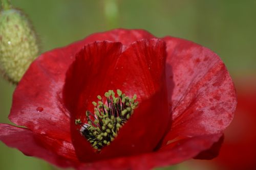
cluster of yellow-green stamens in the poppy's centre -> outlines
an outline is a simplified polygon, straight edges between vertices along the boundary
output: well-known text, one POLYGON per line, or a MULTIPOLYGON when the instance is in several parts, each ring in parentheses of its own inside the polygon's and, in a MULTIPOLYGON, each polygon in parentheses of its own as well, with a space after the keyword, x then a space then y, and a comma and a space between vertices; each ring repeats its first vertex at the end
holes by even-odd
POLYGON ((116 98, 113 90, 105 92, 106 105, 103 103, 101 96, 98 95, 98 103, 92 102, 94 114, 88 110, 86 111, 86 124, 81 123, 80 119, 75 120, 75 124, 81 126, 81 134, 98 151, 114 140, 119 129, 127 122, 138 106, 138 102, 135 102, 136 94, 132 99, 125 96, 119 89, 117 94, 118 97, 116 98))

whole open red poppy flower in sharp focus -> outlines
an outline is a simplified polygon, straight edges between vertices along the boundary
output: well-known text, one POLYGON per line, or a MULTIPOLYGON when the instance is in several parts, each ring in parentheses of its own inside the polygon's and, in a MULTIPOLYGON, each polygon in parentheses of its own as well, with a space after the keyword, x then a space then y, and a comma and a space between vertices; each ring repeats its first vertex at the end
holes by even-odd
POLYGON ((0 139, 60 167, 150 169, 206 158, 236 103, 225 65, 207 48, 117 29, 39 56, 13 94, 9 119, 23 127, 1 124, 0 139))

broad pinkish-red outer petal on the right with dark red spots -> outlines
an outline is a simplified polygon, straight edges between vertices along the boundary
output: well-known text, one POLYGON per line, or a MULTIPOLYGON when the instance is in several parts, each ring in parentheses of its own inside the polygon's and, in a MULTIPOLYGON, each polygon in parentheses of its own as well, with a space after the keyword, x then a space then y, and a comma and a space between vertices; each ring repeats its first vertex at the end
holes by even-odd
POLYGON ((172 129, 163 140, 221 133, 237 105, 236 92, 221 59, 207 48, 165 37, 166 79, 172 129))

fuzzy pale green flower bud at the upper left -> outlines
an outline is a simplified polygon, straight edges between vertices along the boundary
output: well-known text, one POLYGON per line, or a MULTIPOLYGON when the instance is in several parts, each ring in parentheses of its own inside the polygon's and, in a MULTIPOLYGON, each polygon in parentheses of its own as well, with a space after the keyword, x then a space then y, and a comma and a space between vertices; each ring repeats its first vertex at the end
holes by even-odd
POLYGON ((0 73, 8 81, 18 83, 38 56, 35 31, 27 16, 18 9, 0 11, 0 73))

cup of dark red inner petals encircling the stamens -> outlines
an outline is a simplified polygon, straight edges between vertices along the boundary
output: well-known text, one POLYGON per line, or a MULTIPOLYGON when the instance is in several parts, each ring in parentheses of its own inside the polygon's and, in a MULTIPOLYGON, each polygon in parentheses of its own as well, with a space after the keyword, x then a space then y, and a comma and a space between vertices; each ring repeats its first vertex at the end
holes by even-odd
POLYGON ((93 157, 88 156, 89 142, 76 130, 74 122, 83 120, 86 110, 93 112, 92 102, 98 94, 120 89, 129 96, 137 94, 140 104, 111 145, 94 154, 95 160, 151 152, 170 120, 164 83, 164 42, 144 39, 132 43, 122 54, 121 50, 120 43, 96 41, 79 52, 67 73, 65 103, 72 114, 73 143, 83 161, 93 157))

